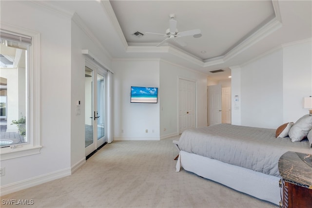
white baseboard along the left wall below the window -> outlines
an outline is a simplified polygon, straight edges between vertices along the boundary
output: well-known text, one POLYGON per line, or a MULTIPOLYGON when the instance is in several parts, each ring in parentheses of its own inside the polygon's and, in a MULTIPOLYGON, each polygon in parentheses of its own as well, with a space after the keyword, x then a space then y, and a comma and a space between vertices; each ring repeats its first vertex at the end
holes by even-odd
POLYGON ((59 179, 68 175, 71 175, 70 168, 58 170, 58 171, 40 175, 34 178, 8 184, 8 185, 0 187, 0 195, 3 196, 3 195, 13 193, 22 189, 34 187, 34 186, 37 186, 37 185, 40 185, 49 181, 53 181, 53 180, 56 180, 56 179, 59 179))

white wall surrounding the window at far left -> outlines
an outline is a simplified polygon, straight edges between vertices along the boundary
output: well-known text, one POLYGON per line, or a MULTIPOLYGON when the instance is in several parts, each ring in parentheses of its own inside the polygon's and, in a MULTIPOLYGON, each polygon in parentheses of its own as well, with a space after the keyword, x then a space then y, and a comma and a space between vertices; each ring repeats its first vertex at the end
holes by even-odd
POLYGON ((25 188, 70 174, 71 20, 28 1, 1 1, 1 23, 40 33, 41 153, 1 161, 1 189, 25 188))

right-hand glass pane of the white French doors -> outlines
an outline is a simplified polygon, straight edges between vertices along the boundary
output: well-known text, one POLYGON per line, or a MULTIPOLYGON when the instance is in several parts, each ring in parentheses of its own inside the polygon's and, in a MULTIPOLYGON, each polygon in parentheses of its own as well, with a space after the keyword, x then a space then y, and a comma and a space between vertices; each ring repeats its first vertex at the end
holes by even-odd
POLYGON ((105 79, 104 76, 98 74, 98 140, 105 136, 105 79))

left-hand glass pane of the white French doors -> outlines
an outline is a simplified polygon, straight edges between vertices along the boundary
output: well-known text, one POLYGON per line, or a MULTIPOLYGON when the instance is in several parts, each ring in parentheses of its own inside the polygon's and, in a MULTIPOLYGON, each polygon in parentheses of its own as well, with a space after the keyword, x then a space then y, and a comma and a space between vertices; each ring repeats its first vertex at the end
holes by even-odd
POLYGON ((93 71, 85 67, 85 147, 93 144, 93 71))

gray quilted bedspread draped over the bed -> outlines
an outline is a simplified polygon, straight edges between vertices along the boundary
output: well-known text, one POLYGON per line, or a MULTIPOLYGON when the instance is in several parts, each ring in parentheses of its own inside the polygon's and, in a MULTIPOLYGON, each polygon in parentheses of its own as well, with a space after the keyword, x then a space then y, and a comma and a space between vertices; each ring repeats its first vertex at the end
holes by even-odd
POLYGON ((268 175, 279 176, 278 160, 287 151, 312 154, 307 139, 275 138, 274 129, 216 124, 182 133, 180 150, 268 175))

